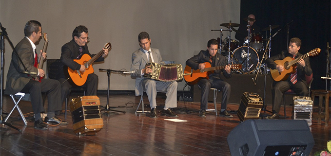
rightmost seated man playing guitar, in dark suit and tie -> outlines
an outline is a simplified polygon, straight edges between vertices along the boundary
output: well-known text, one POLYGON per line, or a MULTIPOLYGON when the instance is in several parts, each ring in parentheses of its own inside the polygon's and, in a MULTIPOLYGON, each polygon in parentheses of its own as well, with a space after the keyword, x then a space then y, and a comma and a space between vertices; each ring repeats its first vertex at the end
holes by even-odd
MULTIPOLYGON (((285 57, 293 57, 297 58, 302 56, 299 53, 299 49, 301 47, 301 40, 299 38, 291 38, 288 52, 281 52, 273 57, 270 57, 266 60, 266 63, 269 68, 277 69, 279 72, 284 71, 284 66, 277 65, 275 60, 283 60, 285 57)), ((296 64, 296 71, 289 75, 288 79, 285 81, 274 81, 273 82, 273 115, 267 117, 267 119, 278 119, 279 118, 279 110, 281 105, 281 100, 283 94, 292 89, 298 96, 308 96, 308 85, 306 83, 306 76, 312 75, 312 68, 309 63, 309 57, 304 59, 300 59, 296 64)))

